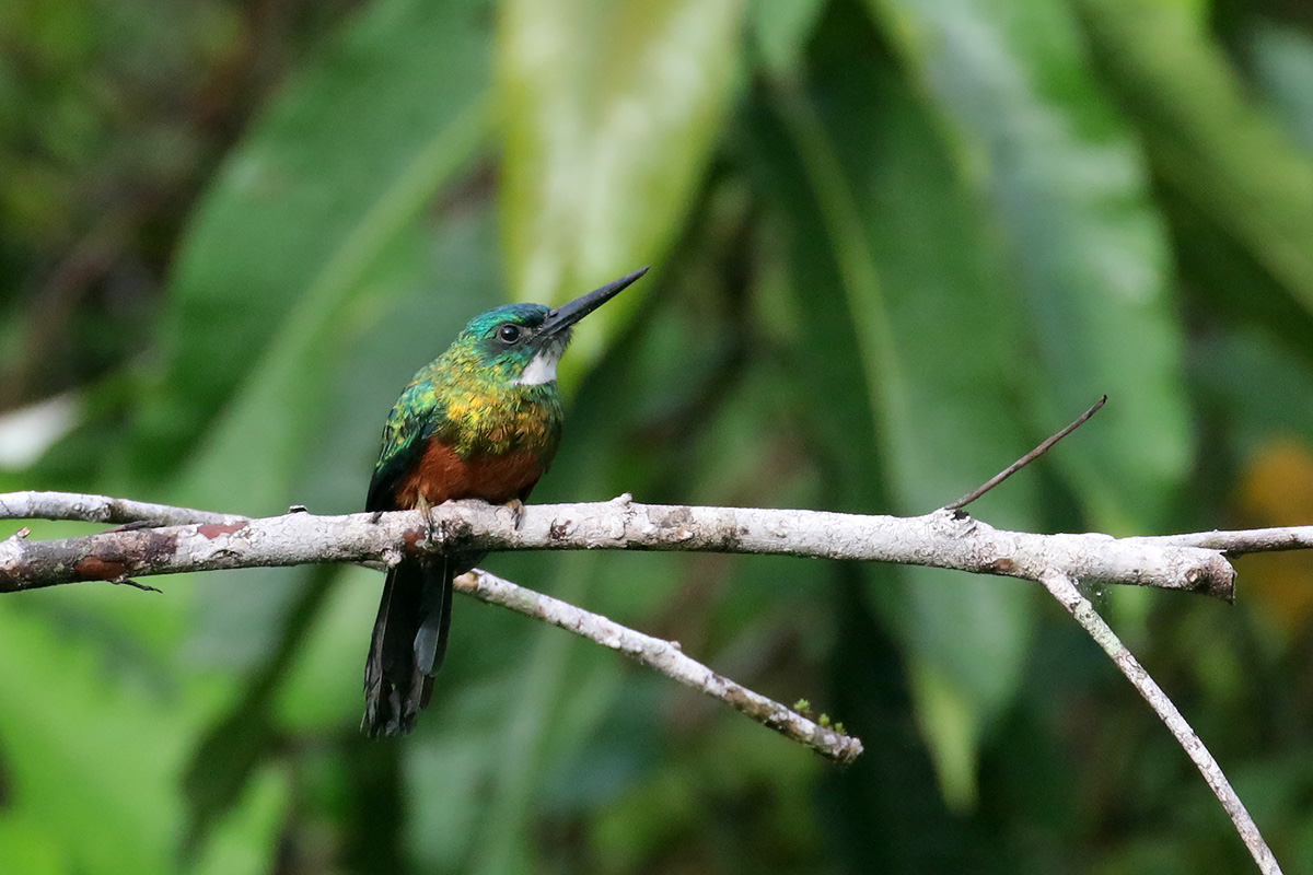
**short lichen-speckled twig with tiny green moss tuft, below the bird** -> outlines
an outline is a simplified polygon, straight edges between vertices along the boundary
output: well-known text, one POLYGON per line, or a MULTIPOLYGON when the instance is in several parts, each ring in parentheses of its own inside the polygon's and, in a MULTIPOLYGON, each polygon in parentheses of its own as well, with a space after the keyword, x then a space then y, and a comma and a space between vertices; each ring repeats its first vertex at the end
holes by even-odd
POLYGON ((643 635, 600 614, 525 589, 482 569, 457 577, 456 586, 479 601, 509 607, 525 617, 545 621, 603 647, 620 651, 668 678, 725 702, 735 711, 830 760, 852 762, 861 754, 860 739, 836 732, 832 727, 823 727, 788 706, 717 674, 685 656, 674 641, 643 635))

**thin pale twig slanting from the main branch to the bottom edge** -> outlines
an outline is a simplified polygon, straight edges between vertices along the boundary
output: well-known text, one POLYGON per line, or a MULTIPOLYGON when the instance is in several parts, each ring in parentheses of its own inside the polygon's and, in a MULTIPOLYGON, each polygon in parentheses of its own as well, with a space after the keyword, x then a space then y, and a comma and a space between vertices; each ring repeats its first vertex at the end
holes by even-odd
POLYGON ((1272 850, 1263 841, 1262 833, 1258 832, 1258 825, 1249 816, 1245 803, 1236 795, 1236 790, 1226 781, 1226 775, 1222 774, 1221 766, 1213 760, 1213 754, 1208 752, 1208 748, 1204 746, 1204 743, 1191 728, 1190 723, 1186 722, 1186 718, 1182 716, 1173 701, 1167 698, 1167 694, 1162 691, 1162 687, 1154 682, 1149 672, 1145 670, 1134 655, 1121 643, 1116 632, 1112 631, 1112 627, 1094 609, 1090 600, 1081 594, 1075 581, 1066 575, 1049 573, 1041 577, 1041 582, 1048 588, 1053 598, 1058 600, 1071 617, 1081 623, 1081 627, 1090 634, 1090 638, 1103 648, 1103 652, 1112 659, 1117 669, 1127 676, 1132 686, 1144 697, 1149 707, 1154 710, 1158 719, 1176 737, 1182 749, 1194 761, 1195 767, 1199 769, 1199 774, 1204 777, 1204 781, 1212 788, 1213 794, 1216 794, 1218 802, 1222 803, 1222 808, 1226 809, 1226 815, 1232 819, 1232 823, 1236 824, 1236 832, 1239 833, 1241 841, 1249 847, 1249 853, 1254 857, 1254 862, 1258 863, 1259 871, 1263 875, 1280 875, 1281 867, 1278 865, 1276 857, 1272 855, 1272 850))

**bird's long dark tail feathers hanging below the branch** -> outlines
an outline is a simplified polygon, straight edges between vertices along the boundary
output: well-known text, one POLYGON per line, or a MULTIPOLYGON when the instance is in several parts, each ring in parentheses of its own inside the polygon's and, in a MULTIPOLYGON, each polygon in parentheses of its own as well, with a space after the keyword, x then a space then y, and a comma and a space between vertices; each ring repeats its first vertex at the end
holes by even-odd
POLYGON ((408 735, 433 691, 452 623, 453 564, 445 556, 407 560, 387 572, 365 662, 369 735, 408 735))

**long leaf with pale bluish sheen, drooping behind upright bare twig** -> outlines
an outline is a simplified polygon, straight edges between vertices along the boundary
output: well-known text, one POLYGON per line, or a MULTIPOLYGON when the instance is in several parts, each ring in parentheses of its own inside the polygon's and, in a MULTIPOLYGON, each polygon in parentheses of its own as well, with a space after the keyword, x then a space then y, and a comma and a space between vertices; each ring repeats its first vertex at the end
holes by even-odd
MULTIPOLYGON (((1040 426, 1100 529, 1163 525, 1190 464, 1182 331, 1134 139, 1056 0, 869 0, 987 198, 1033 323, 1040 426)), ((1019 348, 1015 354, 1024 354, 1019 348)))

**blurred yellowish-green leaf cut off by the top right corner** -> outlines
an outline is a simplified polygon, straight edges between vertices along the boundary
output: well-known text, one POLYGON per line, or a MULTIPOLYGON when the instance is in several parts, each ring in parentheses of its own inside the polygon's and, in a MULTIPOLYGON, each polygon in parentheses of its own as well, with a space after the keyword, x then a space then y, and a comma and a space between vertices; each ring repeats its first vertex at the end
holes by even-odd
POLYGON ((1255 100, 1205 16, 1188 5, 1082 0, 1102 71, 1134 119, 1178 210, 1191 281, 1229 315, 1255 319, 1308 354, 1313 314, 1313 157, 1308 39, 1258 30, 1255 100), (1268 112, 1287 115, 1283 130, 1268 112), (1291 136, 1302 136, 1304 148, 1291 136), (1291 312, 1301 308, 1304 312, 1291 312))

